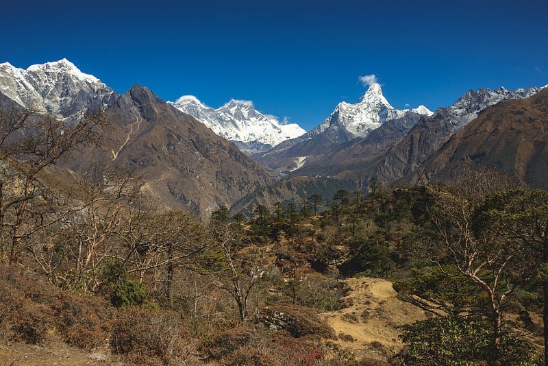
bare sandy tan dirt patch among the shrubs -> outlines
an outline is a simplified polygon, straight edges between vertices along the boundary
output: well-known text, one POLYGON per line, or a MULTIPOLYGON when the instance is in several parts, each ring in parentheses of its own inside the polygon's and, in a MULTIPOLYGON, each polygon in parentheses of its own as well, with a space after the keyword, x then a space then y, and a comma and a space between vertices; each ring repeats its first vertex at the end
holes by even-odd
POLYGON ((343 300, 347 307, 323 317, 338 336, 336 343, 356 356, 385 358, 403 343, 397 326, 426 319, 424 310, 396 298, 392 282, 379 278, 345 280, 351 292, 343 300))

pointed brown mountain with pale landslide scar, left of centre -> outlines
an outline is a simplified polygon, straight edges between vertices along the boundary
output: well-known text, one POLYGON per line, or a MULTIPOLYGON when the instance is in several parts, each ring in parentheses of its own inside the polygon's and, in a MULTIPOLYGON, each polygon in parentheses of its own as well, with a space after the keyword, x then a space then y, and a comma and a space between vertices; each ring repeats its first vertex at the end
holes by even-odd
POLYGON ((201 217, 274 182, 273 175, 202 123, 135 85, 105 112, 112 123, 101 149, 69 162, 82 173, 86 160, 142 175, 163 208, 201 217))

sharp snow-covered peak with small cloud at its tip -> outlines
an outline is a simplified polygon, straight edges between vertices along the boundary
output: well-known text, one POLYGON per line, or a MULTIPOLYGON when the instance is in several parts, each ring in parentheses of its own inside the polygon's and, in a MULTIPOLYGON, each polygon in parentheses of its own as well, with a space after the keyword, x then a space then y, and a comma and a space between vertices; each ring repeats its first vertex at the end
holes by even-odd
POLYGON ((310 132, 310 136, 320 134, 329 128, 342 126, 354 137, 364 137, 386 121, 401 118, 409 112, 427 116, 433 114, 425 106, 419 106, 413 110, 397 110, 390 106, 382 95, 381 86, 371 84, 358 103, 350 104, 345 101, 339 103, 332 114, 310 132))

